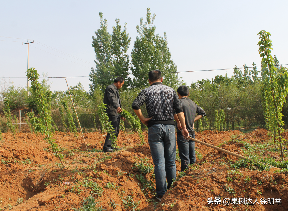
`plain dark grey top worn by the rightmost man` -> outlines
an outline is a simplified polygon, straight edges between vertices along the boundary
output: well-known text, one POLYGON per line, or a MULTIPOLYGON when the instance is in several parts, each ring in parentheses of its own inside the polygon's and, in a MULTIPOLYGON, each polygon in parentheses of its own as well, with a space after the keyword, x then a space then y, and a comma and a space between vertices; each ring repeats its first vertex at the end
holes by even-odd
MULTIPOLYGON (((195 134, 195 131, 193 129, 193 124, 194 124, 194 119, 195 119, 196 114, 206 116, 206 113, 199 105, 197 105, 194 101, 189 99, 189 97, 182 97, 180 99, 180 102, 182 104, 182 109, 183 109, 184 116, 185 116, 186 129, 189 132, 189 134, 195 134)), ((174 111, 174 114, 176 114, 175 111, 174 111)), ((176 123, 176 129, 177 129, 177 134, 178 133, 181 134, 181 131, 178 129, 178 123, 176 123)))

